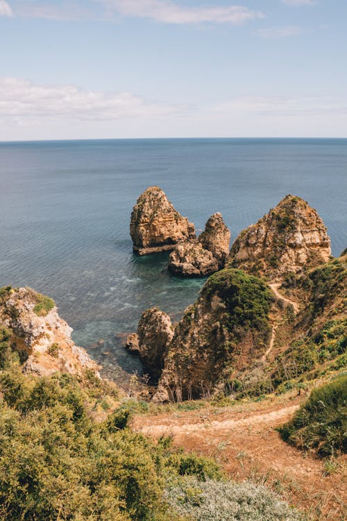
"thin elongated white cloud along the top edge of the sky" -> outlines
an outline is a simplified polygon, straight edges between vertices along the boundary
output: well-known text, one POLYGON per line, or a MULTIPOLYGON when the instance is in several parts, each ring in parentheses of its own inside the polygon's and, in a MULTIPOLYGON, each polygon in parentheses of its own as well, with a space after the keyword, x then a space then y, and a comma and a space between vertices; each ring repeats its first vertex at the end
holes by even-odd
POLYGON ((169 0, 102 0, 110 10, 124 16, 144 17, 167 24, 232 23, 263 18, 260 11, 244 6, 184 7, 169 0))

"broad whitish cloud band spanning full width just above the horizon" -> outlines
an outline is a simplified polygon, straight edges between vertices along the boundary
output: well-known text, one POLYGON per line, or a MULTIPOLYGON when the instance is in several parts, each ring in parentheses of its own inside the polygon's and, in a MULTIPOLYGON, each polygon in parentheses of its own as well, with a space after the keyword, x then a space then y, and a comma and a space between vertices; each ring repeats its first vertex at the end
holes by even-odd
POLYGON ((0 140, 347 135, 346 99, 247 96, 175 105, 0 78, 0 100, 0 140))

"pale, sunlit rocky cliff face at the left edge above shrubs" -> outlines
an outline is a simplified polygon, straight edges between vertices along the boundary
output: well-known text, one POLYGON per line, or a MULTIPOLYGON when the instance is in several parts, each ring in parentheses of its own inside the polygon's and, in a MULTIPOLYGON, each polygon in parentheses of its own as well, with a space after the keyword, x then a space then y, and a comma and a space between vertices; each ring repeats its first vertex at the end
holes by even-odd
POLYGON ((0 326, 12 332, 23 371, 48 376, 56 371, 82 374, 99 367, 85 349, 71 340, 71 327, 58 315, 54 302, 31 288, 2 288, 0 326))

